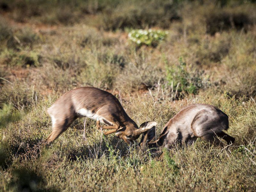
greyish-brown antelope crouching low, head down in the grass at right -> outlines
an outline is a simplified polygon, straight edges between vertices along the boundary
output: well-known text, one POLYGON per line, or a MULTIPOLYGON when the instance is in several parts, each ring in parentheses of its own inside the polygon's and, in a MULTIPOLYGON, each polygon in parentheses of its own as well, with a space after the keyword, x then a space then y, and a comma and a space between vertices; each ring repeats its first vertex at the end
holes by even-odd
POLYGON ((217 107, 206 104, 193 104, 180 110, 164 125, 159 139, 155 139, 155 127, 144 132, 140 146, 149 148, 171 148, 175 143, 193 144, 201 138, 211 144, 224 147, 219 138, 234 143, 235 138, 222 130, 228 129, 228 116, 217 107))

